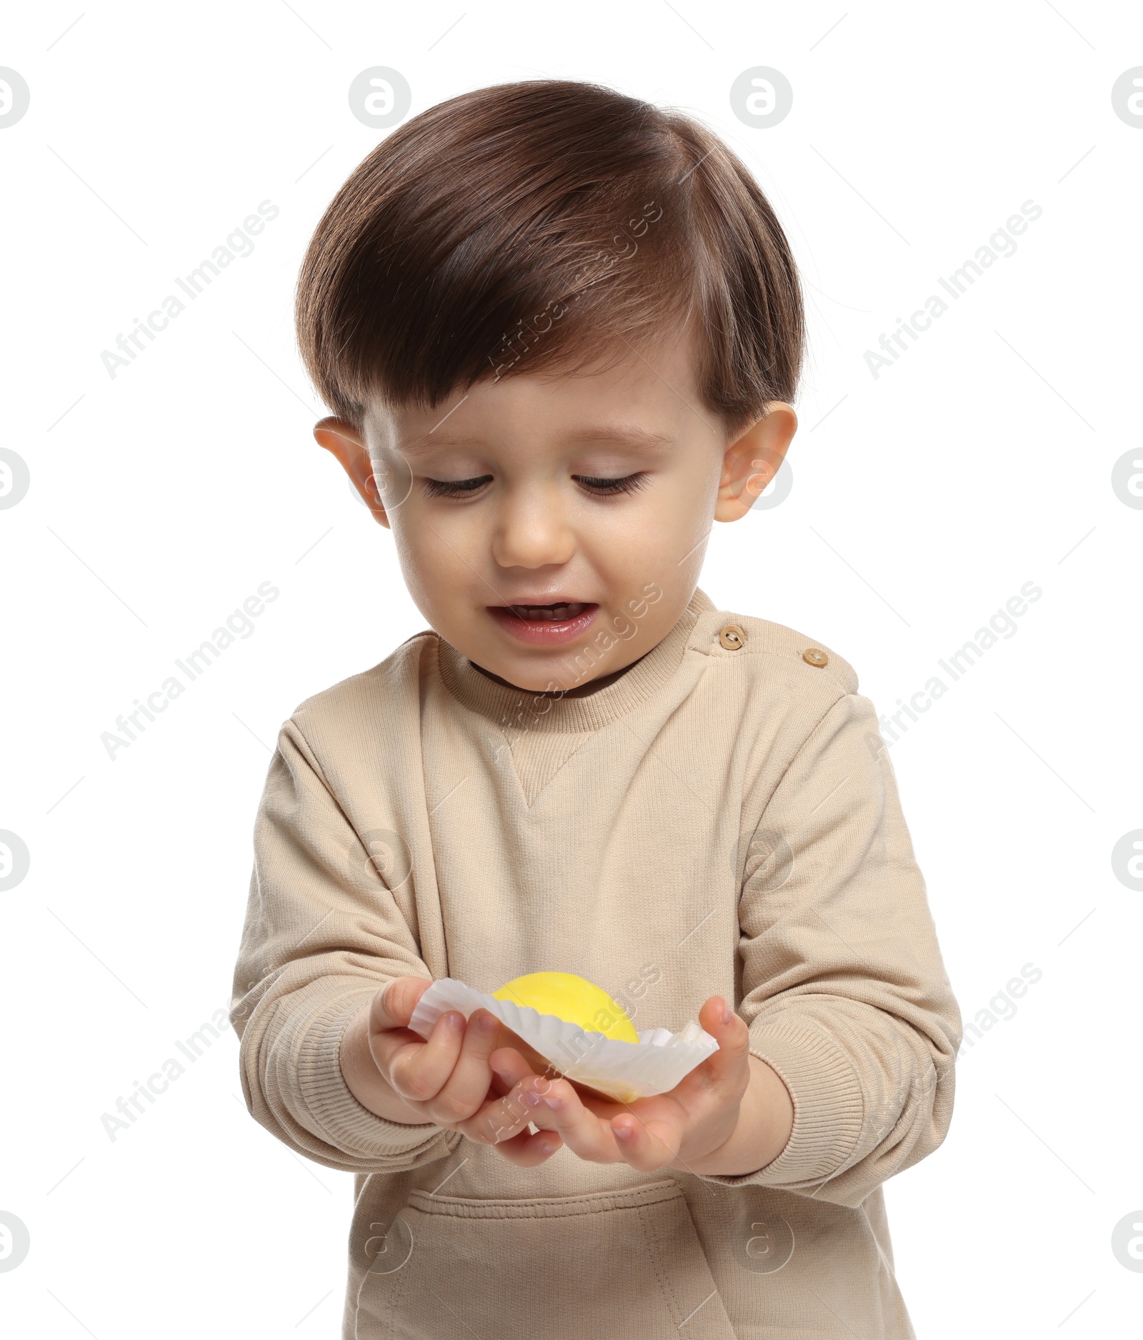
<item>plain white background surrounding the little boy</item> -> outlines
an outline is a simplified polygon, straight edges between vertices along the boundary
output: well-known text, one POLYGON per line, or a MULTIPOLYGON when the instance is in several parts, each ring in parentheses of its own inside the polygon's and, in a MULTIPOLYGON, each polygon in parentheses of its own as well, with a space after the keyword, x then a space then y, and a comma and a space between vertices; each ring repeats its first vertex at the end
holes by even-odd
POLYGON ((1136 1333, 1143 1274, 1111 1234, 1143 1209, 1143 894, 1111 851, 1143 827, 1143 512, 1111 470, 1140 445, 1143 130, 1111 87, 1143 64, 1143 11, 466 3, 4 20, 31 87, 0 130, 0 446, 31 470, 0 511, 0 828, 31 851, 0 894, 0 1210, 31 1234, 0 1273, 7 1332, 339 1335, 351 1178, 248 1116, 233 1033, 114 1142, 100 1118, 229 1004, 279 724, 422 626, 311 438, 292 343, 307 240, 386 134, 347 88, 382 64, 414 115, 598 80, 701 117, 757 173, 812 355, 793 492, 712 539, 720 606, 836 649, 886 712, 1041 587, 891 749, 966 1018, 1043 972, 962 1057, 945 1146, 888 1185, 896 1272, 926 1340, 1136 1333), (728 99, 760 64, 795 96, 762 130, 728 99), (263 200, 253 253, 111 378, 100 351, 263 200), (1026 200, 1016 255, 874 378, 864 351, 1026 200), (100 733, 263 582, 281 594, 253 635, 111 761, 100 733))

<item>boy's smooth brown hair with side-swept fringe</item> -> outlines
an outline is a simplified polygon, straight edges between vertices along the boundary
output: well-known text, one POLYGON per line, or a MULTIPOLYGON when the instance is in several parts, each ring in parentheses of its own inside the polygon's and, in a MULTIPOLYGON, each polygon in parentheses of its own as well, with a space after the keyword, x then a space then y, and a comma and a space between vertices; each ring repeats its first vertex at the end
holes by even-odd
POLYGON ((730 429, 792 401, 804 344, 785 234, 705 126, 611 88, 478 88, 350 174, 297 279, 301 356, 335 414, 433 407, 485 377, 580 371, 698 318, 730 429))

